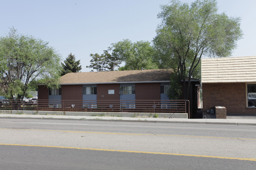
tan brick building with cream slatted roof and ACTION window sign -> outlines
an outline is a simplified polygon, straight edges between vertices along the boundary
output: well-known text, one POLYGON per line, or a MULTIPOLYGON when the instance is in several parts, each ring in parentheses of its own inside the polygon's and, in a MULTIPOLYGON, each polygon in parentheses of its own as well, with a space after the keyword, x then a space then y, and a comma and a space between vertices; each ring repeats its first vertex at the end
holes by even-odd
POLYGON ((256 57, 204 58, 203 111, 226 107, 227 114, 256 114, 256 57))

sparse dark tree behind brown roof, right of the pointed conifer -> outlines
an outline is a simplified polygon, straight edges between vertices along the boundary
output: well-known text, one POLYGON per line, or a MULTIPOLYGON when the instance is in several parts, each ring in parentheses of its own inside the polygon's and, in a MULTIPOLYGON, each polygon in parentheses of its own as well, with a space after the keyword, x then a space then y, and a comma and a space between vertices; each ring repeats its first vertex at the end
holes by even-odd
MULTIPOLYGON (((109 50, 111 50, 111 48, 109 48, 109 50)), ((111 55, 108 50, 104 50, 101 55, 98 55, 98 53, 90 54, 90 57, 92 57, 90 60, 91 64, 86 67, 96 69, 97 71, 114 71, 121 63, 119 58, 111 55)))

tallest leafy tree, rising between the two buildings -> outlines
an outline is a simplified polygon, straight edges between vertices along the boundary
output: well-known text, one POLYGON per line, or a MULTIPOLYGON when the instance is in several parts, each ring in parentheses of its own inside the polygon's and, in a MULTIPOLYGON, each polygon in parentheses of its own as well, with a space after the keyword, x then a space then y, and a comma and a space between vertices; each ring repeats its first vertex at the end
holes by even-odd
POLYGON ((227 57, 242 37, 240 18, 217 13, 216 0, 196 0, 191 3, 171 1, 161 6, 153 42, 161 53, 157 55, 161 67, 177 69, 179 81, 184 83, 184 98, 202 57, 227 57))

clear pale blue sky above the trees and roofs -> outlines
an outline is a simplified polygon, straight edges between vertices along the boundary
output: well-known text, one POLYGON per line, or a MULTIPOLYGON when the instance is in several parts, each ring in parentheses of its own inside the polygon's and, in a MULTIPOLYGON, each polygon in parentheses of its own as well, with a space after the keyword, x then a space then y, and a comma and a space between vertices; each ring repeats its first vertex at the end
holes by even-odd
MULTIPOLYGON (((180 0, 191 3, 193 0, 180 0)), ((169 0, 1 0, 0 36, 11 27, 20 34, 49 42, 62 56, 70 52, 81 60, 82 72, 91 53, 102 54, 111 43, 128 38, 132 42, 152 41, 160 5, 169 0)), ((256 56, 256 1, 219 0, 219 13, 241 17, 243 39, 232 54, 256 56)))

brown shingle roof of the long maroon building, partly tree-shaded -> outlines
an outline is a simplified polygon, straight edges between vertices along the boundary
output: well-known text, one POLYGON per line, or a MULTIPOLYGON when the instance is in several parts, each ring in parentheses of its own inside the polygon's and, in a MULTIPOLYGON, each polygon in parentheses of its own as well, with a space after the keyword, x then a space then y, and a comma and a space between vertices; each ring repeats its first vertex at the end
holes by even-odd
POLYGON ((126 82, 168 82, 171 69, 148 69, 128 71, 100 71, 68 73, 61 77, 61 84, 100 84, 126 82))

